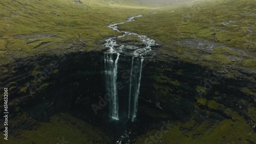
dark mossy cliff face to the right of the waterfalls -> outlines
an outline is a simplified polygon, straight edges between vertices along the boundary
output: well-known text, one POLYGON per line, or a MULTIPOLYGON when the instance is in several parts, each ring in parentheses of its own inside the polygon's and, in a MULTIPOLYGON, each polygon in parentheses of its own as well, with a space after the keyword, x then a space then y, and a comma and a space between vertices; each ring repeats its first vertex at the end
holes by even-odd
POLYGON ((145 63, 140 97, 182 121, 195 117, 195 111, 205 108, 217 112, 223 118, 230 118, 230 115, 224 114, 224 110, 231 108, 248 118, 248 122, 251 120, 246 113, 246 106, 243 105, 243 109, 238 106, 242 105, 242 100, 256 104, 253 94, 241 91, 241 87, 251 85, 246 84, 250 81, 248 78, 225 78, 214 69, 177 61, 145 63), (221 109, 218 105, 209 107, 207 101, 225 108, 221 109), (199 105, 200 109, 195 105, 199 105))

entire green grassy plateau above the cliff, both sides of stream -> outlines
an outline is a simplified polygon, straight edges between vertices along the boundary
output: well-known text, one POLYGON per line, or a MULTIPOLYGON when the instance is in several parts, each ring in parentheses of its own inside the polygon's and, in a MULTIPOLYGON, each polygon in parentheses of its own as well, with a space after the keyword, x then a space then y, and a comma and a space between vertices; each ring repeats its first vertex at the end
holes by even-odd
MULTIPOLYGON (((121 0, 1 1, 0 62, 48 52, 104 49, 102 40, 118 34, 105 25, 143 13, 143 17, 125 23, 120 29, 155 39, 163 46, 163 55, 214 67, 226 64, 254 68, 254 5, 252 0, 180 4, 121 0)), ((162 59, 166 60, 165 56, 162 59)))

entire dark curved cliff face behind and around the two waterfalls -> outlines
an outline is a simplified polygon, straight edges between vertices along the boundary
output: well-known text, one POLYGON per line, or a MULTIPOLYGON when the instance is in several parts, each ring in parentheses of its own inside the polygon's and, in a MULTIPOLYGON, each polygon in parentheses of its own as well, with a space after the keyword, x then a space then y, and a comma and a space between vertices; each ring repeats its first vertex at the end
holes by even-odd
MULTIPOLYGON (((123 55, 118 61, 119 105, 120 111, 124 111, 120 117, 127 111, 131 61, 132 57, 123 55)), ((112 124, 106 125, 109 107, 105 97, 103 52, 40 56, 18 60, 12 65, 12 79, 3 81, 9 84, 11 95, 17 93, 10 99, 11 119, 19 119, 18 113, 26 113, 38 122, 48 122, 52 115, 65 112, 91 124, 104 124, 105 131, 112 128, 112 124)), ((142 65, 139 121, 129 127, 136 131, 137 125, 144 127, 135 133, 136 137, 159 121, 159 115, 145 109, 145 105, 150 105, 167 113, 173 121, 183 123, 189 119, 197 123, 234 119, 233 112, 237 112, 254 129, 256 119, 250 109, 256 104, 255 97, 241 90, 255 85, 249 78, 224 78, 218 71, 200 65, 146 57, 142 65)), ((25 126, 20 121, 12 123, 21 130, 38 127, 37 123, 25 126)))

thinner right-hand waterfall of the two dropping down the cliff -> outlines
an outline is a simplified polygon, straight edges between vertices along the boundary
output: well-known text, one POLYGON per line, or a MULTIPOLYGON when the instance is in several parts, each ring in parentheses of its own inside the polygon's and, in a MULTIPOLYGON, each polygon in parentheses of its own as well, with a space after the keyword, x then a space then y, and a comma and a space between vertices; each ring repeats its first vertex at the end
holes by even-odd
POLYGON ((135 120, 138 110, 138 98, 140 90, 140 79, 142 71, 142 62, 139 57, 133 57, 132 69, 130 75, 130 89, 129 89, 129 114, 128 118, 132 117, 132 122, 135 120), (135 59, 134 59, 135 58, 135 59))

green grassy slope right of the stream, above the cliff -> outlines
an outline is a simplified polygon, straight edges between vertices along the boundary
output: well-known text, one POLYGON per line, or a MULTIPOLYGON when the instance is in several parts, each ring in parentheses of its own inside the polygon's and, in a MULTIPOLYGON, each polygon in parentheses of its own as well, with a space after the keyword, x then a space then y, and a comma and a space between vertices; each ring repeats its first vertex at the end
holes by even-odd
POLYGON ((157 40, 162 54, 182 61, 255 69, 255 1, 196 1, 155 11, 120 29, 157 40))

